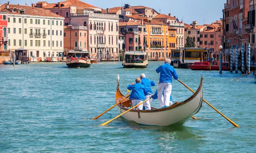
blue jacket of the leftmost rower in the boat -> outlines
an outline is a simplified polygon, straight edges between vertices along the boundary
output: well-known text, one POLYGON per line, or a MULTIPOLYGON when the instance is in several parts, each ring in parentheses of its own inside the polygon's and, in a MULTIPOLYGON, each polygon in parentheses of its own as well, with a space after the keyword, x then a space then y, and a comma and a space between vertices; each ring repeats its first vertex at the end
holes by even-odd
POLYGON ((144 101, 145 95, 148 94, 147 88, 140 83, 128 85, 127 89, 132 90, 129 100, 138 99, 144 101))

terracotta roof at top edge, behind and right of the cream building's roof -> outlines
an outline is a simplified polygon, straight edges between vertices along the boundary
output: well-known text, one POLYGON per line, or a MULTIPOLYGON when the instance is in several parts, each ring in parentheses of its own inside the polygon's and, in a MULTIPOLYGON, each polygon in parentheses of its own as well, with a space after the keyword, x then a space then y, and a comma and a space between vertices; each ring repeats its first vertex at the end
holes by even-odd
MULTIPOLYGON (((60 2, 60 4, 64 4, 64 6, 62 6, 61 8, 70 8, 70 6, 80 6, 82 8, 87 8, 87 9, 88 8, 89 9, 98 8, 96 6, 92 6, 90 4, 84 3, 80 0, 65 0, 63 2, 60 2)), ((57 5, 58 5, 58 3, 50 3, 46 6, 44 6, 44 9, 58 8, 57 5)))

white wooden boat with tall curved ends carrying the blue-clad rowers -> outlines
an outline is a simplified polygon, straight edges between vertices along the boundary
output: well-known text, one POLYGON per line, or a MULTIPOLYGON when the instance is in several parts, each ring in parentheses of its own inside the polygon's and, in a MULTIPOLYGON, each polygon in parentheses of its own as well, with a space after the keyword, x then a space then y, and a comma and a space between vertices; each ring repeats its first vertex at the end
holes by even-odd
MULTIPOLYGON (((176 102, 168 108, 153 110, 131 110, 122 115, 123 118, 150 126, 183 125, 188 119, 199 112, 203 100, 203 77, 200 85, 191 97, 183 102, 176 102)), ((125 96, 119 90, 119 76, 117 77, 116 103, 124 99, 125 96)), ((119 113, 123 113, 131 107, 132 103, 128 99, 118 105, 119 113)))

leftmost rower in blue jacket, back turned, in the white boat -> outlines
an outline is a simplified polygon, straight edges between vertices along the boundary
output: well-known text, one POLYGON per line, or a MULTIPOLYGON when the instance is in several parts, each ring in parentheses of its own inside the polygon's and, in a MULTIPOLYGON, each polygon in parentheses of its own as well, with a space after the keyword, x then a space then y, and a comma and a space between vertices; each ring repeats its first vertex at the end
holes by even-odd
MULTIPOLYGON (((148 94, 147 88, 140 83, 140 78, 136 78, 135 82, 135 84, 131 83, 131 85, 128 85, 127 87, 128 90, 132 90, 129 100, 131 100, 133 106, 143 102, 145 100, 145 95, 148 94)), ((139 105, 137 109, 142 110, 143 104, 139 105)), ((134 108, 134 110, 136 110, 136 108, 134 108)))

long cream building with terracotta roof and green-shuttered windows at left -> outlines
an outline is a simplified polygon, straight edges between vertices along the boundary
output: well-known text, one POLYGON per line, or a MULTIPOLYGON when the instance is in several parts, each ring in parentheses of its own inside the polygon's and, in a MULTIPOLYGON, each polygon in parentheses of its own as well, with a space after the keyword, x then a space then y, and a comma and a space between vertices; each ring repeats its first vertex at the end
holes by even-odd
POLYGON ((35 8, 34 5, 20 6, 9 2, 1 6, 8 12, 9 49, 28 50, 33 61, 57 61, 58 53, 63 52, 64 17, 35 8), (55 57, 55 58, 52 58, 55 57))

